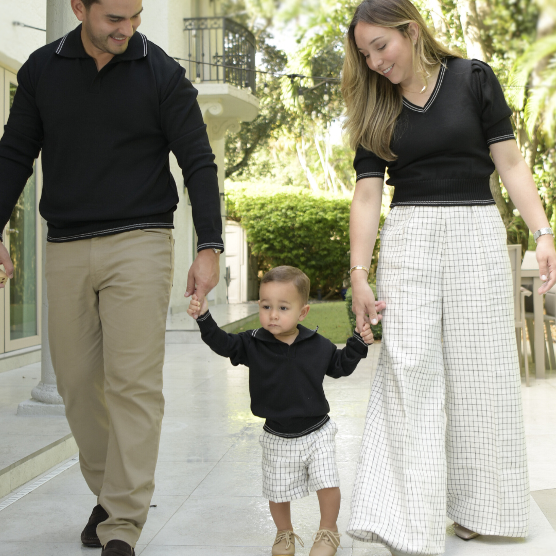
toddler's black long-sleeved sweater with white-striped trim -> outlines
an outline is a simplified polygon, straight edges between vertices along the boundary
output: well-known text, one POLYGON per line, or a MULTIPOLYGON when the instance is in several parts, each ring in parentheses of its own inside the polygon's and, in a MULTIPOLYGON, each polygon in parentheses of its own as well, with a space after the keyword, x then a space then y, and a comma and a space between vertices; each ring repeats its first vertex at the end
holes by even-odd
POLYGON ((209 311, 197 324, 212 351, 229 357, 232 365, 249 367, 251 411, 266 419, 265 430, 278 436, 304 436, 324 425, 330 410, 322 389, 324 376, 350 375, 368 351, 357 332, 337 349, 316 330, 300 324, 291 345, 264 328, 227 334, 209 311))

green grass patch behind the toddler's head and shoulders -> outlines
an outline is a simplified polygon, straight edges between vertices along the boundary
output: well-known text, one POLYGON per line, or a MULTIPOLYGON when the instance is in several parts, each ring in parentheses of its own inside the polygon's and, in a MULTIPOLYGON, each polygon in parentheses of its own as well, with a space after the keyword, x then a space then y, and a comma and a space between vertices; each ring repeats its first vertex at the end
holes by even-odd
MULTIPOLYGON (((328 338, 334 344, 345 344, 347 338, 351 336, 345 301, 312 304, 309 314, 301 324, 313 330, 318 326, 319 334, 328 338)), ((259 315, 256 315, 245 322, 243 326, 232 330, 232 332, 237 334, 260 327, 261 321, 259 315)))

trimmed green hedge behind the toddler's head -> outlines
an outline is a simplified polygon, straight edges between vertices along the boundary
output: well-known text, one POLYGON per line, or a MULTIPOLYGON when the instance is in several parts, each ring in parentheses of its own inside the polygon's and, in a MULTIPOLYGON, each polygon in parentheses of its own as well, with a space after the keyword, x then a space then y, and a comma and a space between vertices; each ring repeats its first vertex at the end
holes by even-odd
POLYGON ((350 200, 299 192, 232 191, 228 214, 247 232, 260 272, 279 265, 300 268, 311 292, 339 291, 349 271, 350 200))

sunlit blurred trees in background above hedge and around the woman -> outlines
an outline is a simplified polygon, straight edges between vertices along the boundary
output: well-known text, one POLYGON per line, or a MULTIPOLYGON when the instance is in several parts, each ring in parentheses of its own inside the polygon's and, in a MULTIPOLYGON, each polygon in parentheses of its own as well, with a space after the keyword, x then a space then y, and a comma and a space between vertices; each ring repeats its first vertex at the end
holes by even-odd
MULTIPOLYGON (((267 183, 277 183, 344 194, 353 190, 353 152, 341 145, 335 134, 343 108, 339 82, 335 80, 340 77, 344 34, 358 2, 225 2, 227 13, 255 33, 262 53, 260 69, 309 76, 292 80, 257 76, 261 115, 254 122, 243 123, 239 135, 228 136, 226 176, 265 187, 267 183), (296 39, 289 40, 287 45, 279 42, 281 29, 286 26, 287 37, 294 34, 296 39), (279 44, 284 51, 269 46, 272 44, 279 44), (311 76, 324 76, 329 81, 324 85, 311 76)), ((533 169, 543 206, 549 219, 556 220, 554 33, 535 42, 540 14, 545 25, 550 18, 552 21, 556 18, 554 0, 414 0, 414 3, 429 26, 434 24, 439 40, 450 48, 465 56, 465 38, 471 37, 481 44, 486 61, 493 67, 514 109, 518 144, 533 169), (473 19, 471 14, 474 28, 464 36, 460 11, 471 5, 477 17, 473 19)), ((515 216, 515 206, 503 188, 502 195, 505 206, 499 203, 499 209, 508 226, 508 240, 527 237, 527 226, 515 216)))

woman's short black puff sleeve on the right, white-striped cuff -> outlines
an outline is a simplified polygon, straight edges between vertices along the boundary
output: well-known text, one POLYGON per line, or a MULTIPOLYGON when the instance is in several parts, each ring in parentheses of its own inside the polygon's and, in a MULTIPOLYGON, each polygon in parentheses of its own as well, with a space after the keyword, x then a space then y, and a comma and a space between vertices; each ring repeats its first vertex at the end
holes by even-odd
POLYGON ((504 92, 489 64, 471 60, 471 86, 481 107, 481 123, 486 144, 514 139, 510 116, 512 109, 504 98, 504 92))

